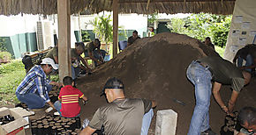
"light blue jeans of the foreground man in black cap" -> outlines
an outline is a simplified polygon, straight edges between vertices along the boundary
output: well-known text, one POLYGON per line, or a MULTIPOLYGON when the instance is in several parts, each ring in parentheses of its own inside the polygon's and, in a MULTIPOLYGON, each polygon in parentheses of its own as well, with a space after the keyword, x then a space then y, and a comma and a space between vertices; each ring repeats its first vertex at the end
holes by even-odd
POLYGON ((153 109, 149 110, 142 119, 141 133, 140 135, 147 135, 149 126, 151 124, 152 117, 154 116, 153 109))

